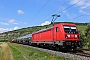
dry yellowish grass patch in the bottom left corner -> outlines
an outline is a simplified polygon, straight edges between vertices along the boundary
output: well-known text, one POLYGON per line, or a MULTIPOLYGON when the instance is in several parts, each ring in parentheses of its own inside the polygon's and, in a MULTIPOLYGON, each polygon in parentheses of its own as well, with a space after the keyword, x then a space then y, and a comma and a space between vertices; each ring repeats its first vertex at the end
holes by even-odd
POLYGON ((7 43, 0 44, 0 60, 13 60, 7 43))

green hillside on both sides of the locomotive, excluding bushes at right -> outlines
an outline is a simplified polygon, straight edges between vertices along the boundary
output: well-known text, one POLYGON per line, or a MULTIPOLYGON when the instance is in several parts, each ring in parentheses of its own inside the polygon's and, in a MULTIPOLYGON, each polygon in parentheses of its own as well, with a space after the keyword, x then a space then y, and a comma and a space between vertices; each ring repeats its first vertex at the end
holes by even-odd
MULTIPOLYGON (((57 23, 60 23, 60 22, 56 22, 55 24, 57 23)), ((67 23, 67 22, 64 22, 64 23, 67 23)), ((68 22, 68 23, 73 23, 73 22, 68 22)), ((79 31, 84 31, 85 29, 83 28, 86 28, 86 25, 87 25, 87 23, 75 23, 75 24, 78 26, 79 31)), ((22 28, 14 31, 4 32, 0 34, 0 41, 12 40, 27 34, 31 34, 32 32, 36 32, 41 29, 49 28, 51 26, 52 24, 45 25, 45 26, 33 26, 33 27, 22 28)))

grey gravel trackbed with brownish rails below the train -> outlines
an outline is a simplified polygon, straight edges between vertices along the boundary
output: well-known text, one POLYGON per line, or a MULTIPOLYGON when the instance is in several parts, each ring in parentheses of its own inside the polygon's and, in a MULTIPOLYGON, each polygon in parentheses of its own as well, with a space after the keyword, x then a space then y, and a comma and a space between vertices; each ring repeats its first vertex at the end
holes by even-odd
MULTIPOLYGON (((22 44, 20 44, 22 45, 22 44)), ((28 45, 22 45, 24 47, 28 48, 34 48, 40 51, 48 52, 50 54, 54 54, 57 56, 61 57, 66 57, 69 58, 70 60, 90 60, 90 54, 84 53, 83 51, 77 51, 77 52, 60 52, 60 51, 54 51, 54 50, 49 50, 49 49, 44 49, 44 48, 39 48, 39 47, 33 47, 33 46, 28 46, 28 45)))

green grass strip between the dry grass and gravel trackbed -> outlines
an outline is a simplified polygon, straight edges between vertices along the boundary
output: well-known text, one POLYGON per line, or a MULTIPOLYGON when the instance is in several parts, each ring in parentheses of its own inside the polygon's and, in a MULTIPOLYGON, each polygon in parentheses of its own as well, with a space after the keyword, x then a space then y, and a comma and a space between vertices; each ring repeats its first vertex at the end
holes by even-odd
POLYGON ((18 44, 9 43, 9 46, 13 53, 14 60, 69 60, 68 58, 59 57, 28 47, 23 47, 18 44))

